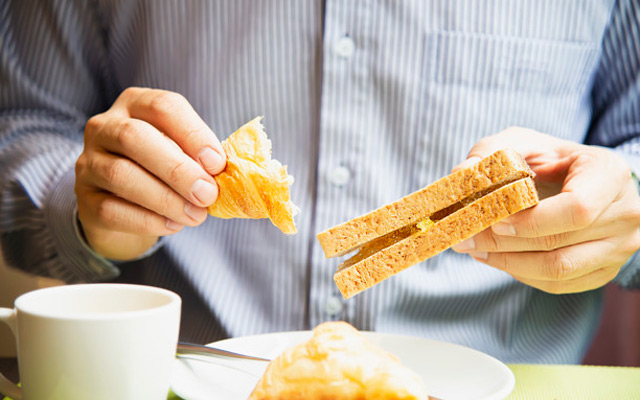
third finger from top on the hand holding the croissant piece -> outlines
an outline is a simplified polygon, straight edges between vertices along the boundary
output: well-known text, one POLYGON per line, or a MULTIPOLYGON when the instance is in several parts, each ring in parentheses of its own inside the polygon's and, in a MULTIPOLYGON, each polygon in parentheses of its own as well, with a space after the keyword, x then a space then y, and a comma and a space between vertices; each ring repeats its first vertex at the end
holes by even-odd
POLYGON ((196 226, 207 216, 205 208, 186 201, 135 162, 114 154, 94 152, 90 167, 80 171, 78 179, 182 225, 196 226))

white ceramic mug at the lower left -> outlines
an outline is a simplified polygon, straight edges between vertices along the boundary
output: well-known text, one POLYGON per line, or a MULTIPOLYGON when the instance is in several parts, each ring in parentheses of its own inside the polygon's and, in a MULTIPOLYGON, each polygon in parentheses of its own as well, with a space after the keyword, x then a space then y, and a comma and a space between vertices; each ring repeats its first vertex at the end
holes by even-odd
POLYGON ((14 400, 166 400, 180 326, 168 290, 86 284, 23 294, 0 308, 14 332, 22 388, 0 375, 14 400))

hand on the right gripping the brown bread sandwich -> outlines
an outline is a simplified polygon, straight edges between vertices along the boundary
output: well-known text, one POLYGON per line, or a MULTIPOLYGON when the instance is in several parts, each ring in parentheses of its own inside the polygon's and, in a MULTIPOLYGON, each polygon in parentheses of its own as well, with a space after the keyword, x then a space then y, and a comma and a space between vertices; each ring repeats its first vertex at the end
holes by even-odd
POLYGON ((611 150, 515 127, 482 139, 461 165, 505 147, 536 173, 540 203, 453 249, 549 293, 613 280, 640 248, 640 196, 627 163, 611 150))

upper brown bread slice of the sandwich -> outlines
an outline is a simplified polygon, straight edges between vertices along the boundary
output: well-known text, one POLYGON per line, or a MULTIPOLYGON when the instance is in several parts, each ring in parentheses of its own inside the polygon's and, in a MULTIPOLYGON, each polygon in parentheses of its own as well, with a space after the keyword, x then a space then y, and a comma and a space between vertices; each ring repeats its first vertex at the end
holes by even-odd
POLYGON ((402 199, 320 232, 317 239, 326 257, 341 256, 474 193, 533 175, 518 153, 511 149, 498 150, 402 199))

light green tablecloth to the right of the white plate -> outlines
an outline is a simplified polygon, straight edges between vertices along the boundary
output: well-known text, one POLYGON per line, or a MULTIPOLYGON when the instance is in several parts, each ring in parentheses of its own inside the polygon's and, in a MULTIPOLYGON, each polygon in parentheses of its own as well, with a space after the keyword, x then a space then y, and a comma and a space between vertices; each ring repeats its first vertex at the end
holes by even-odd
MULTIPOLYGON (((507 400, 640 400, 640 368, 524 364, 509 368, 516 387, 507 400)), ((181 399, 169 394, 168 400, 181 399)))

